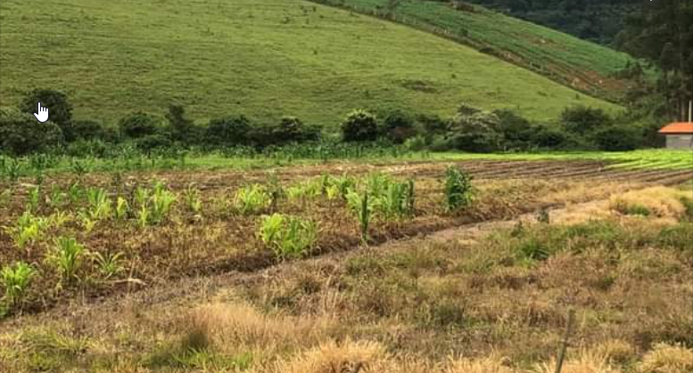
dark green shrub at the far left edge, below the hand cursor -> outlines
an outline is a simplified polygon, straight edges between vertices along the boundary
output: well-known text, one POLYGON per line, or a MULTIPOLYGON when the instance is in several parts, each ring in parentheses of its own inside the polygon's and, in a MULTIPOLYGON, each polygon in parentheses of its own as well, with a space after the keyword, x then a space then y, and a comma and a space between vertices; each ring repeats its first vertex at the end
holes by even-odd
POLYGON ((52 121, 39 123, 32 114, 0 109, 0 153, 24 155, 62 143, 62 130, 52 121))

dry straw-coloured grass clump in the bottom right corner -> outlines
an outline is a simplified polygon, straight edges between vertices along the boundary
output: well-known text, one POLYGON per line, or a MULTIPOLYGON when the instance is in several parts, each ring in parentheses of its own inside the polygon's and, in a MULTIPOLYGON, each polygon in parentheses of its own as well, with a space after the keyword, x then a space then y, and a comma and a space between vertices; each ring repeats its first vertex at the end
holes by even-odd
POLYGON ((693 371, 693 350, 681 345, 657 344, 643 356, 641 373, 688 373, 693 371))

